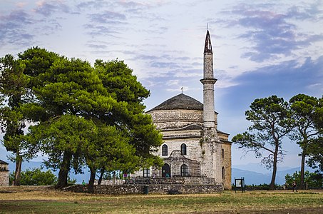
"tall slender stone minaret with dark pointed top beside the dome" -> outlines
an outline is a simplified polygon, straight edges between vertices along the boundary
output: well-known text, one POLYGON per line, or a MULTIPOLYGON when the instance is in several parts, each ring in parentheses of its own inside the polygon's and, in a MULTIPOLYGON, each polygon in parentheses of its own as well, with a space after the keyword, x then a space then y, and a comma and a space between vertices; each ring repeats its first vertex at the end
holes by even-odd
POLYGON ((200 80, 203 84, 203 123, 204 128, 216 128, 214 111, 213 52, 209 30, 207 30, 204 46, 204 76, 200 80))

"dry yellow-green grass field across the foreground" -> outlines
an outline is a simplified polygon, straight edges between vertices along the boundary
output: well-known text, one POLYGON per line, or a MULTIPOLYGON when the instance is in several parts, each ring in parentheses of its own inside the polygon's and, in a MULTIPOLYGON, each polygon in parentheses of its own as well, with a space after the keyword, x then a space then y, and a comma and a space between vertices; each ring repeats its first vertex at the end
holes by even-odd
POLYGON ((323 213, 323 191, 118 196, 13 186, 0 187, 0 213, 323 213))

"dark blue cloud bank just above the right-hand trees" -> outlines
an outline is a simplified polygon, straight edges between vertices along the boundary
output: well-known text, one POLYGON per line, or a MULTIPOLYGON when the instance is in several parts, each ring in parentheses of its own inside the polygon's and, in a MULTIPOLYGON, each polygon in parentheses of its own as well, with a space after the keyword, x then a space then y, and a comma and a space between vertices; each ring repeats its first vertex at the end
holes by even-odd
POLYGON ((242 73, 233 79, 237 86, 226 88, 231 101, 246 100, 277 95, 290 98, 298 93, 321 97, 323 94, 323 56, 313 60, 308 57, 299 65, 296 60, 284 61, 242 73))

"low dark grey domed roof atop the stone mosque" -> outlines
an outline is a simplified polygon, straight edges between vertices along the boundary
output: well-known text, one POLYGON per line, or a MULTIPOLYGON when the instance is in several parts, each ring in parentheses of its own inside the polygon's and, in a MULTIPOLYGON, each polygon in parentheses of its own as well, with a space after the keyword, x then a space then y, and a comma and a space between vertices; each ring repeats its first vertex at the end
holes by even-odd
MULTIPOLYGON (((155 110, 175 110, 175 109, 186 109, 186 110, 203 110, 203 104, 200 101, 195 100, 190 96, 180 93, 177 96, 169 98, 167 101, 160 103, 155 108, 150 109, 149 111, 155 110)), ((147 112, 149 112, 147 111, 147 112)))

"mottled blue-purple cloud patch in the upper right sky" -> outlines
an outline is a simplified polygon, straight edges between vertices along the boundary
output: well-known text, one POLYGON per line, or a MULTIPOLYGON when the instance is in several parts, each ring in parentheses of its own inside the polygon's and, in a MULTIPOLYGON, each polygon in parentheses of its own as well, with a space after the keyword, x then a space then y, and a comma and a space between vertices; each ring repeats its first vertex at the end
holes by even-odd
POLYGON ((239 4, 230 11, 235 19, 226 21, 227 26, 245 28, 246 31, 237 38, 252 44, 242 58, 255 62, 275 60, 291 56, 294 51, 304 49, 315 41, 323 41, 323 34, 299 31, 300 26, 294 21, 317 20, 322 11, 314 10, 312 6, 305 9, 292 6, 279 12, 277 7, 275 4, 239 4))

